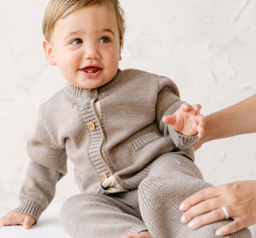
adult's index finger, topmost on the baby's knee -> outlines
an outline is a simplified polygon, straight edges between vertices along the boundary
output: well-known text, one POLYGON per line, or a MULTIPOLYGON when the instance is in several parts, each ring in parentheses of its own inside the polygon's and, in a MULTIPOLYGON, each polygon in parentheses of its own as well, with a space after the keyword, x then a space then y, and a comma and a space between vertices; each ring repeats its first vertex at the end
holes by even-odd
POLYGON ((200 190, 199 192, 196 192, 192 196, 185 199, 182 204, 180 205, 181 211, 186 211, 190 209, 190 207, 193 207, 194 205, 197 205, 198 203, 201 203, 201 201, 205 201, 208 199, 213 199, 214 197, 218 197, 220 194, 220 188, 219 187, 210 187, 210 188, 204 188, 203 190, 200 190))

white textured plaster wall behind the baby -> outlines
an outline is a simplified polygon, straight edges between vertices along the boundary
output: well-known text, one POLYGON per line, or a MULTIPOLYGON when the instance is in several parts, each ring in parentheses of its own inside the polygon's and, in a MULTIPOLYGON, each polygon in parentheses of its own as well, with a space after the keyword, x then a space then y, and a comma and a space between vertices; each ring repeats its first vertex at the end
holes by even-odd
MULTIPOLYGON (((255 0, 120 2, 128 18, 121 69, 168 76, 205 115, 256 93, 255 0)), ((18 205, 39 105, 66 85, 42 50, 47 3, 0 0, 0 216, 18 205)), ((255 134, 212 141, 196 153, 196 164, 214 185, 255 179, 255 148, 255 134)), ((79 192, 72 169, 54 201, 79 192)))

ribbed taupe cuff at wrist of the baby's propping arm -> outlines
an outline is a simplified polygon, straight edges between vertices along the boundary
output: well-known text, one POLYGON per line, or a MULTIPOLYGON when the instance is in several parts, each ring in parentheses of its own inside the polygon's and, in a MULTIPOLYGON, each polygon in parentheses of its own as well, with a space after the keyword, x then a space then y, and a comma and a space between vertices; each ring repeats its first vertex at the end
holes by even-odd
POLYGON ((21 200, 20 205, 12 211, 18 211, 22 214, 32 216, 35 218, 35 223, 38 222, 38 219, 42 214, 42 209, 39 207, 39 205, 29 200, 21 200))

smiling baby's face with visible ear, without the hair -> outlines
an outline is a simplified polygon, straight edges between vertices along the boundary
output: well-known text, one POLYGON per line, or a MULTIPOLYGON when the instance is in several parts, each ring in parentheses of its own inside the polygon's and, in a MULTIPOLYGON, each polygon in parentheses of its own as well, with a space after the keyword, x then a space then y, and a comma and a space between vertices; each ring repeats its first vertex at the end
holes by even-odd
POLYGON ((104 6, 83 7, 59 19, 51 42, 43 45, 48 62, 80 88, 111 81, 122 59, 115 12, 104 6))

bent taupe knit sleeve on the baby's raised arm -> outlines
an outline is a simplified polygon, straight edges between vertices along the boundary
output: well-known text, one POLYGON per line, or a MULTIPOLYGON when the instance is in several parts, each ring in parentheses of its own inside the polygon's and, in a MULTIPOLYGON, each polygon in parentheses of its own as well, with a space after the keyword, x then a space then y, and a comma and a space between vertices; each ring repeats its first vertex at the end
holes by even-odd
POLYGON ((193 136, 182 135, 175 131, 171 125, 162 122, 164 116, 171 116, 186 102, 180 100, 180 92, 172 80, 159 75, 157 78, 158 95, 156 101, 156 121, 158 128, 165 137, 169 137, 173 140, 177 148, 186 150, 199 140, 197 134, 193 136))

